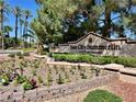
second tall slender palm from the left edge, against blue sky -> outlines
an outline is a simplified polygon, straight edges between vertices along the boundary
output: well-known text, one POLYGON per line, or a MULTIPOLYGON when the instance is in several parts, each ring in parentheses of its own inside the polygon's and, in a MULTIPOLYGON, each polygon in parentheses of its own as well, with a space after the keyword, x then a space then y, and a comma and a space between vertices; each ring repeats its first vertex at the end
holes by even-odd
POLYGON ((13 13, 15 15, 15 47, 18 45, 18 23, 19 23, 19 18, 21 16, 21 9, 20 7, 13 8, 13 13))

